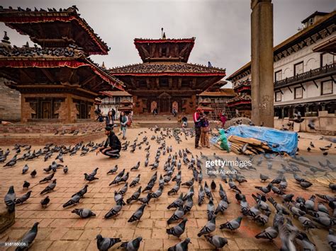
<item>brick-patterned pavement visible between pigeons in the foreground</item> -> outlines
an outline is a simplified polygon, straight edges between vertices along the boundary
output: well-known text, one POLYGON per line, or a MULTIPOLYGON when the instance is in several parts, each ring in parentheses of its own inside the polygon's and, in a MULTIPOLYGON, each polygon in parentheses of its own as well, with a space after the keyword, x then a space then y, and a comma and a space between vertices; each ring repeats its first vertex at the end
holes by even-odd
MULTIPOLYGON (((128 129, 128 139, 131 141, 138 137, 141 141, 144 134, 138 136, 139 132, 147 131, 147 136, 150 141, 150 136, 153 132, 148 129, 128 129)), ((184 136, 182 137, 184 139, 184 136)), ((177 144, 176 141, 167 138, 167 146, 173 146, 173 153, 179 151, 181 148, 189 148, 196 156, 200 156, 200 150, 194 150, 194 138, 188 137, 188 140, 184 140, 181 144, 177 144)), ((155 141, 150 141, 150 163, 153 163, 155 158, 155 153, 157 147, 159 146, 155 141)), ((2 148, 6 148, 2 147, 2 148)), ((12 147, 11 147, 12 148, 12 147)), ((133 202, 133 204, 128 204, 123 206, 123 209, 115 218, 104 219, 103 216, 107 213, 109 209, 115 205, 113 199, 113 192, 123 187, 123 183, 120 185, 108 186, 108 184, 113 180, 116 175, 106 175, 108 170, 118 165, 118 171, 123 168, 126 171, 130 170, 137 162, 140 160, 140 168, 138 171, 130 172, 130 180, 133 180, 135 176, 141 173, 140 184, 144 187, 147 184, 152 174, 155 172, 150 170, 150 168, 144 167, 145 151, 142 149, 136 149, 135 153, 130 153, 129 149, 127 152, 122 152, 121 158, 118 160, 111 160, 106 158, 106 156, 96 156, 95 153, 89 153, 87 156, 80 157, 79 153, 76 156, 65 156, 65 164, 69 167, 69 173, 66 175, 62 172, 62 169, 57 170, 55 173, 55 178, 57 178, 57 186, 55 187, 55 192, 48 194, 50 196, 51 202, 47 209, 42 209, 40 205, 40 200, 44 196, 41 196, 40 191, 46 186, 38 185, 38 180, 45 177, 46 174, 43 172, 43 168, 47 167, 57 156, 54 153, 52 160, 47 162, 43 161, 43 158, 39 158, 33 161, 20 162, 13 168, 0 168, 1 186, 0 186, 0 197, 4 198, 4 195, 8 191, 10 185, 14 185, 16 196, 21 196, 26 191, 23 191, 22 185, 23 180, 28 180, 30 182, 30 189, 33 191, 30 199, 22 205, 16 206, 16 223, 6 230, 6 232, 0 234, 0 242, 8 240, 19 240, 26 231, 33 226, 33 223, 38 221, 40 225, 38 227, 38 235, 35 239, 30 250, 96 250, 96 235, 101 234, 103 237, 111 238, 121 238, 123 241, 142 236, 143 240, 140 245, 140 250, 167 250, 168 247, 179 243, 186 237, 191 238, 191 244, 189 244, 189 250, 211 250, 213 247, 206 242, 205 238, 197 238, 197 233, 206 224, 206 208, 208 199, 202 206, 198 206, 196 203, 198 195, 198 184, 195 183, 195 196, 194 196, 194 207, 191 212, 187 215, 188 221, 186 223, 186 231, 181 235, 181 239, 167 235, 166 228, 167 219, 172 216, 174 209, 167 209, 167 205, 176 199, 179 194, 172 196, 167 195, 167 191, 174 186, 174 182, 170 182, 166 187, 164 187, 164 193, 159 199, 153 199, 149 206, 146 206, 144 214, 140 222, 128 223, 128 218, 133 214, 133 212, 140 206, 139 202, 133 202), (21 174, 23 165, 28 163, 29 171, 26 175, 21 174), (94 168, 99 168, 96 177, 99 180, 94 182, 86 182, 84 180, 84 173, 91 173, 94 168), (29 173, 33 169, 38 170, 38 175, 35 178, 30 177, 29 173), (63 209, 62 204, 67 202, 67 200, 81 189, 85 184, 89 184, 88 192, 85 194, 84 198, 80 201, 77 206, 71 206, 67 209, 63 209), (76 214, 72 214, 71 211, 74 208, 89 208, 96 214, 96 217, 81 219, 76 214)), ((204 154, 212 155, 214 152, 220 155, 218 148, 212 147, 211 149, 201 150, 204 154)), ((11 156, 13 154, 11 153, 11 156)), ((233 156, 233 153, 230 153, 233 156)), ((9 156, 9 158, 11 157, 9 156)), ((164 165, 166 156, 160 157, 160 165, 158 168, 159 174, 164 173, 162 166, 164 165)), ((189 157, 190 159, 190 157, 189 157)), ((266 168, 264 168, 266 169, 266 168)), ((192 172, 187 169, 186 165, 182 164, 182 182, 186 182, 191 179, 192 172)), ((264 170, 262 170, 264 172, 264 170)), ((206 176, 206 175, 205 175, 206 176)), ((272 177, 274 177, 273 175, 272 177)), ((211 181, 208 180, 208 183, 211 181)), ((218 181, 217 185, 218 185, 218 181)), ((224 214, 220 214, 216 218, 216 230, 213 234, 221 235, 228 238, 228 245, 225 246, 225 250, 277 250, 279 249, 279 238, 274 240, 274 242, 269 242, 267 240, 257 240, 254 238, 256 233, 266 228, 272 222, 272 214, 269 223, 265 227, 257 226, 254 221, 243 218, 242 226, 239 230, 228 231, 220 230, 219 225, 225 223, 233 218, 240 215, 240 206, 236 203, 234 198, 235 193, 229 191, 229 187, 224 182, 221 182, 225 191, 228 194, 229 201, 231 202, 227 211, 224 214)), ((247 201, 250 205, 254 204, 254 201, 250 194, 257 192, 257 189, 253 187, 255 185, 263 185, 259 180, 248 180, 247 183, 243 183, 240 186, 243 194, 246 194, 247 201)), ((138 185, 139 186, 139 185, 138 185)), ((138 186, 128 188, 125 194, 125 199, 130 197, 138 186)), ((158 187, 158 182, 156 182, 153 191, 158 187)), ((181 187, 179 192, 187 192, 187 187, 181 187)), ((330 190, 325 185, 315 184, 313 189, 308 189, 303 191, 300 187, 293 184, 292 180, 289 180, 289 189, 287 192, 293 192, 294 194, 300 194, 306 199, 310 197, 312 192, 320 192, 323 194, 331 194, 330 190)), ((218 188, 213 193, 214 203, 217 206, 220 201, 218 195, 218 188)), ((144 197, 146 194, 143 194, 144 197)), ((1 202, 2 203, 2 202, 1 202)), ((272 210, 274 210, 272 208, 272 210)), ((174 224, 169 225, 169 227, 174 226, 174 224)), ((311 230, 310 233, 315 233, 315 230, 311 230)), ((321 241, 325 242, 327 232, 323 230, 320 235, 321 241)), ((325 243, 317 243, 320 247, 326 247, 325 243)), ((119 245, 114 246, 115 248, 119 245)), ((321 249, 322 250, 322 249, 321 249)))

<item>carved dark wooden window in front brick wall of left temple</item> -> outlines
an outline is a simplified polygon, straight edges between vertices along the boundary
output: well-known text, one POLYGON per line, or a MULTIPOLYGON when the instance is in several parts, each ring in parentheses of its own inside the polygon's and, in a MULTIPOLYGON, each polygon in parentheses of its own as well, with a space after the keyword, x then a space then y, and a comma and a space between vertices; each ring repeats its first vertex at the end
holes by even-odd
POLYGON ((58 119, 59 108, 65 98, 26 98, 34 111, 32 119, 58 119))

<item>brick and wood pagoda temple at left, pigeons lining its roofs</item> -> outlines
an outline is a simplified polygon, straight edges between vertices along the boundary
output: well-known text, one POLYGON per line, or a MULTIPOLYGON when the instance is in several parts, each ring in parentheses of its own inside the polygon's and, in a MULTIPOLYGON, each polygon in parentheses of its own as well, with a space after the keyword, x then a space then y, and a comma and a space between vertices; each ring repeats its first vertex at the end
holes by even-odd
POLYGON ((21 122, 89 122, 100 91, 123 91, 123 83, 89 59, 109 48, 70 8, 1 8, 0 21, 37 45, 0 44, 0 76, 21 93, 21 122), (40 45, 40 47, 38 46, 40 45))

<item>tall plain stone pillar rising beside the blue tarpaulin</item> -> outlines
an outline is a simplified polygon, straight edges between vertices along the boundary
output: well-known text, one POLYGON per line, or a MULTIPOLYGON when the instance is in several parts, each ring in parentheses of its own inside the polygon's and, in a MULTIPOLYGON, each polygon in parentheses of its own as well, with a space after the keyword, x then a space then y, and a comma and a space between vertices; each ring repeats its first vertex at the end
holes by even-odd
POLYGON ((273 4, 251 0, 252 122, 274 127, 273 4))

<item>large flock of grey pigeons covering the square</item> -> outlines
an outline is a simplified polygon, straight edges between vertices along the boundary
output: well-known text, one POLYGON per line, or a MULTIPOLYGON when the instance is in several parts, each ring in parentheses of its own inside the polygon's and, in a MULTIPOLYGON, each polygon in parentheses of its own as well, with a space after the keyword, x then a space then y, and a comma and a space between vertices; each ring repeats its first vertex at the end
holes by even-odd
MULTIPOLYGON (((122 151, 129 151, 130 154, 135 151, 145 152, 145 161, 138 161, 130 170, 119 170, 118 165, 115 165, 106 175, 113 176, 109 186, 118 186, 123 184, 118 190, 114 192, 115 206, 109 210, 104 218, 117 217, 123 210, 125 204, 139 204, 139 207, 134 211, 133 215, 128 219, 128 223, 134 221, 140 221, 146 207, 160 199, 162 194, 167 191, 168 196, 177 196, 177 198, 171 204, 167 205, 167 209, 173 209, 172 216, 167 218, 167 235, 174 235, 180 238, 184 234, 188 226, 188 215, 193 211, 194 203, 198 206, 206 208, 206 217, 208 222, 198 232, 198 238, 205 238, 208 243, 211 243, 215 248, 222 248, 228 245, 227 238, 220 235, 213 235, 213 232, 218 227, 216 220, 220 220, 220 216, 225 214, 225 211, 230 210, 230 204, 233 203, 228 199, 227 192, 234 194, 237 204, 240 205, 240 216, 233 218, 230 221, 222 222, 219 225, 221 230, 237 231, 242 221, 250 221, 251 224, 257 224, 259 226, 265 226, 261 233, 255 235, 257 239, 274 240, 278 238, 281 240, 281 250, 296 250, 301 248, 302 250, 316 250, 315 243, 308 235, 310 235, 310 229, 323 228, 328 231, 325 236, 325 241, 330 245, 332 250, 336 250, 336 235, 332 228, 336 225, 336 197, 335 195, 328 194, 311 194, 309 198, 303 198, 286 192, 289 183, 286 180, 286 175, 293 175, 293 179, 296 180, 298 188, 304 191, 313 185, 312 182, 306 180, 305 177, 301 177, 301 168, 291 162, 283 159, 281 163, 282 168, 276 170, 279 175, 273 180, 267 175, 260 174, 260 182, 262 186, 254 187, 254 192, 250 194, 243 194, 240 186, 244 182, 248 182, 243 173, 256 172, 257 168, 262 168, 261 165, 264 161, 267 162, 267 169, 272 170, 272 161, 274 158, 279 157, 275 154, 264 154, 257 158, 257 156, 251 156, 250 160, 253 165, 233 167, 228 165, 226 168, 230 172, 226 172, 224 168, 216 168, 212 166, 208 170, 218 170, 219 175, 213 175, 213 172, 206 172, 204 168, 204 162, 211 159, 224 160, 220 156, 213 153, 213 156, 209 157, 200 154, 200 156, 192 153, 188 148, 178 148, 179 144, 186 139, 194 137, 194 129, 160 129, 158 127, 150 128, 149 135, 146 131, 142 131, 138 134, 138 137, 131 143, 125 141, 122 144, 122 151), (142 135, 142 139, 140 139, 142 135), (177 142, 173 146, 167 145, 167 139, 173 139, 177 142), (155 147, 155 151, 150 151, 155 147), (155 153, 154 160, 150 162, 150 155, 155 153), (160 162, 163 165, 160 165, 160 162), (152 172, 152 177, 147 183, 141 180, 141 170, 147 168, 152 172), (140 172, 133 180, 129 180, 130 172, 140 172), (190 180, 185 180, 186 173, 192 173, 190 180), (286 175, 285 175, 286 174, 286 175), (216 179, 217 178, 217 179, 216 179), (269 180, 269 183, 267 183, 269 180), (155 188, 155 185, 158 185, 155 188), (138 187, 138 189, 129 194, 129 187, 138 187), (167 188, 169 187, 169 189, 167 188), (187 187, 187 192, 179 192, 181 187, 187 187), (166 190, 166 191, 164 191, 166 190), (195 190, 197 191, 195 193, 195 190), (146 195, 142 195, 147 193, 146 195), (219 197, 215 194, 218 194, 219 197), (247 197, 252 196, 254 204, 251 205, 247 202, 247 197), (217 205, 215 205, 214 198, 220 198, 217 205), (207 202, 206 202, 207 201, 207 202), (271 221, 273 216, 273 221, 271 221), (266 227, 267 225, 267 227, 266 227)), ((79 154, 85 156, 87 153, 96 151, 97 148, 103 145, 94 144, 89 142, 84 144, 83 142, 71 147, 71 146, 55 146, 53 144, 47 144, 38 151, 31 153, 31 146, 16 145, 12 150, 0 151, 0 163, 6 161, 7 156, 11 151, 15 152, 15 156, 7 161, 4 165, 6 168, 11 168, 19 161, 33 160, 44 156, 45 161, 55 158, 48 168, 40 170, 32 170, 30 175, 35 177, 37 172, 43 172, 47 175, 43 177, 38 184, 47 183, 48 185, 41 189, 40 194, 50 194, 57 186, 57 180, 55 179, 55 173, 59 170, 63 170, 64 175, 71 172, 71 169, 65 165, 65 156, 74 156, 79 154), (22 153, 25 151, 25 153, 22 153), (22 156, 18 157, 21 153, 22 156), (56 160, 58 160, 56 162, 56 160)), ((295 157, 296 160, 302 162, 305 158, 302 156, 295 157)), ((239 159, 237 159, 239 160, 239 159)), ((310 170, 320 172, 321 170, 336 171, 336 166, 329 160, 326 163, 320 163, 321 168, 318 170, 310 170), (322 167, 323 165, 323 167, 322 167)), ((275 169, 274 169, 275 171, 275 169)), ((29 172, 28 163, 24 165, 22 174, 25 175, 29 172)), ((85 199, 85 194, 88 187, 92 182, 99 182, 99 168, 95 168, 91 173, 84 173, 84 180, 86 184, 82 189, 72 195, 71 198, 65 204, 64 208, 80 205, 81 200, 85 199)), ((24 189, 29 189, 30 183, 25 181, 23 183, 24 189)), ((336 191, 336 184, 329 185, 332 192, 336 191)), ((309 191, 313 191, 310 189, 309 191)), ((13 186, 9 188, 9 192, 6 194, 4 201, 9 212, 15 211, 17 204, 23 204, 28 201, 30 197, 28 191, 22 197, 16 197, 13 186)), ((46 208, 48 204, 52 203, 52 196, 44 197, 40 204, 43 208, 46 208)), ((77 214, 80 218, 89 218, 96 216, 91 209, 76 208, 72 210, 73 214, 77 214)), ((38 233, 38 222, 34 224, 26 235, 21 239, 22 242, 33 243, 38 233)), ((125 250, 138 250, 142 237, 139 236, 133 240, 122 241, 120 238, 106 238, 101 235, 96 235, 97 247, 99 250, 108 250, 116 243, 121 243, 121 248, 125 250)), ((176 245, 169 247, 169 250, 188 250, 188 245, 191 243, 190 238, 185 238, 176 245)), ((18 247, 18 250, 20 248, 18 247)))

